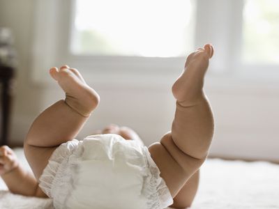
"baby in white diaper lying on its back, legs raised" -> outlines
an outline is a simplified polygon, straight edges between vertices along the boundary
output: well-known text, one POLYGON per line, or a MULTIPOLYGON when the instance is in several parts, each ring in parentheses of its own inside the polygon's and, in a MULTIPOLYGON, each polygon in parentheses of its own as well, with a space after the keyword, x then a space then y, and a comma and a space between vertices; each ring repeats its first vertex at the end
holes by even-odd
POLYGON ((74 139, 98 106, 99 95, 76 69, 51 68, 66 98, 36 118, 24 141, 35 178, 6 146, 0 149, 1 177, 11 192, 48 196, 55 208, 189 207, 213 137, 213 115, 203 91, 212 56, 211 45, 188 56, 172 86, 172 130, 149 148, 133 130, 116 125, 82 141, 74 139))

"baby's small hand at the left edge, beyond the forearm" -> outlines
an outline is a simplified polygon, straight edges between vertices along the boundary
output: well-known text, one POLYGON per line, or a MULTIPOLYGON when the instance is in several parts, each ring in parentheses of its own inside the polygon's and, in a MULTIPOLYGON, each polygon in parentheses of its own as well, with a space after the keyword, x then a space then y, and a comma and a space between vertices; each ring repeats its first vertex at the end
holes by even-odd
POLYGON ((17 156, 8 146, 0 147, 0 175, 8 173, 19 165, 17 156))

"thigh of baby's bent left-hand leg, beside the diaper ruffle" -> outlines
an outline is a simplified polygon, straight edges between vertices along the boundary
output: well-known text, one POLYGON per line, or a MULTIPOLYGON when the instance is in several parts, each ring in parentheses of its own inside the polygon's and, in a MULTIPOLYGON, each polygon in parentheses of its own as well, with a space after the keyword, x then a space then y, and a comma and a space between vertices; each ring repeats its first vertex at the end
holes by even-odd
POLYGON ((29 162, 29 165, 33 171, 34 176, 38 180, 43 173, 43 170, 47 166, 50 156, 56 150, 55 147, 39 147, 31 146, 29 144, 24 144, 24 154, 29 162))

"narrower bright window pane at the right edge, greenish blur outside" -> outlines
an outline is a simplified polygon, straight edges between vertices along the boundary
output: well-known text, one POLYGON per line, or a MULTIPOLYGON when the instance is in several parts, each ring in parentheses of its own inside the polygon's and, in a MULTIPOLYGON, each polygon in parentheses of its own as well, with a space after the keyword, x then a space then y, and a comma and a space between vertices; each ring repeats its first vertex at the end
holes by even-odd
POLYGON ((246 0, 243 10, 243 59, 279 63, 279 1, 246 0))

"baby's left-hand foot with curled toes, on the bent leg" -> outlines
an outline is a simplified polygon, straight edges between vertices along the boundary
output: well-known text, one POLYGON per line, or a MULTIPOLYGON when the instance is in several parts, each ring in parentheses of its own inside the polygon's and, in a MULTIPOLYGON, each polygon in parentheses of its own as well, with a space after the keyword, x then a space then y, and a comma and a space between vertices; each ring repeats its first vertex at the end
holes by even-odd
POLYGON ((96 91, 84 82, 80 72, 68 65, 61 68, 51 68, 50 75, 65 91, 65 102, 82 116, 89 116, 98 105, 100 97, 96 91))

